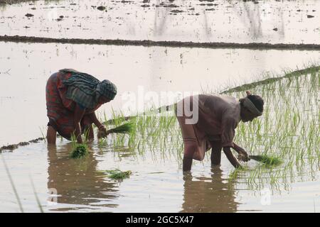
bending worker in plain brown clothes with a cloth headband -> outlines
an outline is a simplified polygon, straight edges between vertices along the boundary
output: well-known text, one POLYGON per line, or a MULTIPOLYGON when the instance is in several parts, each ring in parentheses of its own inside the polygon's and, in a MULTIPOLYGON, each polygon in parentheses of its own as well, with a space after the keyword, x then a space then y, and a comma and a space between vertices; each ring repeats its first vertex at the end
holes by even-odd
POLYGON ((263 104, 260 96, 250 92, 239 100, 230 96, 200 94, 178 102, 176 115, 184 143, 183 171, 191 170, 193 159, 202 161, 210 148, 212 165, 220 165, 222 149, 234 167, 241 165, 230 148, 237 151, 243 161, 249 160, 245 150, 233 142, 235 128, 240 121, 252 121, 261 116, 263 104), (196 123, 188 123, 191 117, 186 110, 193 111, 193 117, 198 114, 196 123))

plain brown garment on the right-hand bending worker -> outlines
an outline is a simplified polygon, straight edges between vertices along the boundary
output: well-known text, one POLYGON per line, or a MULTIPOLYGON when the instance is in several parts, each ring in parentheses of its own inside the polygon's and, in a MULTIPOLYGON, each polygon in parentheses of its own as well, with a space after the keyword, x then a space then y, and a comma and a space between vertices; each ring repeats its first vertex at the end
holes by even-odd
POLYGON ((223 147, 233 147, 235 128, 240 121, 238 99, 200 94, 181 100, 180 105, 183 109, 177 109, 176 114, 182 132, 185 156, 203 160, 206 151, 211 148, 210 141, 220 141, 223 147), (195 97, 198 99, 194 99, 195 97), (198 105, 198 122, 186 124, 186 119, 192 116, 186 116, 184 108, 192 110, 193 104, 198 105), (193 153, 190 153, 190 150, 193 150, 193 153))

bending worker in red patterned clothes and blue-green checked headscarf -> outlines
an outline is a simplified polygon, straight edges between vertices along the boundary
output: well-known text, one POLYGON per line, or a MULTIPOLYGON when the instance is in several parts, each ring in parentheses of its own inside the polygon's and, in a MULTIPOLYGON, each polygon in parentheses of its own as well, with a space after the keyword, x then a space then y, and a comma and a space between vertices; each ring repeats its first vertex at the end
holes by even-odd
POLYGON ((55 143, 57 132, 68 140, 75 135, 78 143, 82 143, 81 135, 87 131, 88 138, 92 139, 92 123, 100 136, 107 136, 95 111, 116 94, 117 87, 107 79, 100 82, 90 74, 68 69, 52 74, 46 84, 48 143, 55 143))

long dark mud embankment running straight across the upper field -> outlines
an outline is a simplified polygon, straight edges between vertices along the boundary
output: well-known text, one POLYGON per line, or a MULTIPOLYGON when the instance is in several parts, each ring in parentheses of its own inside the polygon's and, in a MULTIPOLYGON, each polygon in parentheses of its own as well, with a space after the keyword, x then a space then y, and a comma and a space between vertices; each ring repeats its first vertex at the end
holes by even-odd
POLYGON ((171 48, 240 48, 252 50, 320 50, 319 44, 288 44, 288 43, 193 43, 180 41, 152 41, 152 40, 101 40, 80 38, 43 38, 34 36, 0 35, 0 41, 15 43, 69 43, 92 45, 136 45, 161 46, 171 48))

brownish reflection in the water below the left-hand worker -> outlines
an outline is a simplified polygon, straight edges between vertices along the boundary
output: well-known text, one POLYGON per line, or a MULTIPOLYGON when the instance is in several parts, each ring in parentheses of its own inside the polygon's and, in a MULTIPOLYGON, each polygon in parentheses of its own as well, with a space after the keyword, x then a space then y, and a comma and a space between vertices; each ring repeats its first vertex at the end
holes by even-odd
MULTIPOLYGON (((106 182, 105 177, 97 172, 97 160, 90 153, 87 157, 74 160, 68 157, 70 143, 59 147, 48 147, 48 191, 56 190, 58 206, 61 204, 76 204, 80 206, 115 207, 112 201, 117 198, 114 183, 106 182)), ((57 210, 55 206, 53 209, 57 210)), ((63 205, 69 210, 70 206, 63 205)), ((98 208, 97 208, 98 209, 98 208)))

